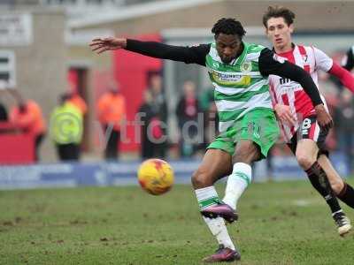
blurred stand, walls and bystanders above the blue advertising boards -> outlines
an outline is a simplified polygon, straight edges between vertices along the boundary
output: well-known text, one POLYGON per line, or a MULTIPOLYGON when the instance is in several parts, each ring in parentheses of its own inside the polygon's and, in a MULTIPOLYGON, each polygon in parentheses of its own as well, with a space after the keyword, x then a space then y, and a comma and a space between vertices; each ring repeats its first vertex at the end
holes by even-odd
MULTIPOLYGON (((280 3, 296 12, 296 42, 313 43, 352 70, 354 2, 297 2, 280 3)), ((213 22, 237 15, 247 29, 246 41, 269 47, 261 16, 274 3, 255 4, 2 1, 0 163, 200 157, 218 133, 205 69, 120 50, 97 57, 88 43, 97 35, 176 45, 210 42, 213 22)), ((345 155, 352 171, 353 95, 326 73, 319 84, 335 120, 327 145, 345 155)), ((272 154, 289 155, 289 150, 280 140, 272 154)))

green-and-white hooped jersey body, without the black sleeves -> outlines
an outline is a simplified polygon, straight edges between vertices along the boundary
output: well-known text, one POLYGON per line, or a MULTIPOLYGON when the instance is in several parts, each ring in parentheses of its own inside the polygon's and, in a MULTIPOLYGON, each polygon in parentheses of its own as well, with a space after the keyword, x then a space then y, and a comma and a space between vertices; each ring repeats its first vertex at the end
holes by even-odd
POLYGON ((243 42, 240 57, 224 64, 218 55, 215 42, 205 58, 219 113, 219 132, 227 131, 237 119, 250 110, 273 110, 268 79, 259 72, 258 57, 265 47, 243 42))

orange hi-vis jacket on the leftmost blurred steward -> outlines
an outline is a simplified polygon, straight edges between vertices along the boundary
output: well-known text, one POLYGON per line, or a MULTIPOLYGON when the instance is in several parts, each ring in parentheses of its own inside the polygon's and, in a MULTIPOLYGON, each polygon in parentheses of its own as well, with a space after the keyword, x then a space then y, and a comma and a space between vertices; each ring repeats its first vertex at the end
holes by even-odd
POLYGON ((10 113, 10 120, 13 125, 19 127, 26 133, 39 135, 45 133, 46 125, 42 116, 40 106, 32 101, 26 102, 26 110, 21 113, 19 107, 13 107, 10 113))

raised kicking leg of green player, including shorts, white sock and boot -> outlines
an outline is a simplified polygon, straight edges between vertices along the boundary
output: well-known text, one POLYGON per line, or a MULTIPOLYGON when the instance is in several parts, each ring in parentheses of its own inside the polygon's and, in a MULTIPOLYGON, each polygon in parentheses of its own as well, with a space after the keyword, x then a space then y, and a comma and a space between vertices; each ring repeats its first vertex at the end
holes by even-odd
POLYGON ((265 158, 268 150, 273 146, 279 136, 279 128, 273 111, 266 109, 252 110, 234 126, 235 132, 230 131, 233 140, 237 142, 235 147, 235 164, 232 174, 227 179, 227 187, 224 204, 207 208, 204 213, 218 214, 228 222, 230 212, 235 212, 236 204, 242 193, 250 185, 250 164, 261 158, 265 158))

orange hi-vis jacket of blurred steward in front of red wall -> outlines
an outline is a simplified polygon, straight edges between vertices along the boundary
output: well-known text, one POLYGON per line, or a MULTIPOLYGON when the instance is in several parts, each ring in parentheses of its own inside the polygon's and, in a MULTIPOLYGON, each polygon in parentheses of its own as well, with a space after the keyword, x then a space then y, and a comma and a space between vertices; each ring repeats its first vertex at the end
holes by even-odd
POLYGON ((112 125, 120 130, 120 123, 126 116, 126 101, 123 95, 106 93, 98 100, 98 120, 104 125, 112 125))

